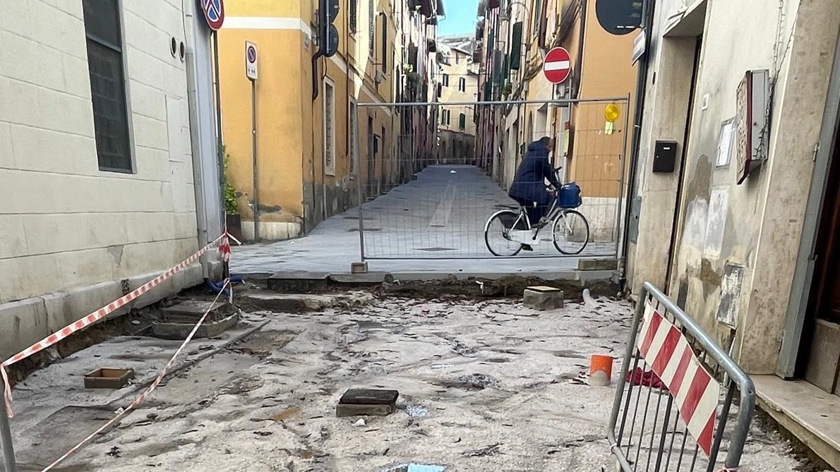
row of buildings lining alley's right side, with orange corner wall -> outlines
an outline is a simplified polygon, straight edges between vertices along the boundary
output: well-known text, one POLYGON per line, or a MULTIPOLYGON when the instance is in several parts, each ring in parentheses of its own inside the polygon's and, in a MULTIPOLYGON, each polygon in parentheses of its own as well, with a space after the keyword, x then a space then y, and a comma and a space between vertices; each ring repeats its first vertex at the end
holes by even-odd
POLYGON ((480 108, 481 161, 501 186, 510 186, 529 143, 554 137, 551 159, 563 181, 576 181, 596 242, 618 239, 621 200, 627 187, 625 125, 633 114, 637 73, 632 62, 635 34, 611 34, 596 19, 596 2, 530 0, 482 3, 480 90, 485 100, 527 101, 480 108), (543 74, 549 50, 569 51, 571 73, 555 86, 543 74), (575 102, 552 103, 552 100, 575 102), (577 102, 580 101, 580 102, 577 102), (607 125, 605 109, 619 117, 607 125))

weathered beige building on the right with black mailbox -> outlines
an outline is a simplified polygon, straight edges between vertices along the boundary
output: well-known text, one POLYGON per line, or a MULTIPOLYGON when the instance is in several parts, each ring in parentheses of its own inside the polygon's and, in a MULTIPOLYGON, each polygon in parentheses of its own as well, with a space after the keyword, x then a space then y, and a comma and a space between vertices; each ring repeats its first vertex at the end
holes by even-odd
POLYGON ((765 411, 840 467, 840 4, 675 0, 651 24, 628 285, 731 345, 765 411))

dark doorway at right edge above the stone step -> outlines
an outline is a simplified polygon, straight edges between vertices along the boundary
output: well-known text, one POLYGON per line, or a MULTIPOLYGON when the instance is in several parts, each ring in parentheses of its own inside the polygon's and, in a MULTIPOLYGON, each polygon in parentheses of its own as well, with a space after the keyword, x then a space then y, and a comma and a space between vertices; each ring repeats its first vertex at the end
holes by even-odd
MULTIPOLYGON (((835 134, 820 212, 804 336, 805 380, 840 396, 840 134, 835 134)), ((804 353, 803 353, 804 354, 804 353)))

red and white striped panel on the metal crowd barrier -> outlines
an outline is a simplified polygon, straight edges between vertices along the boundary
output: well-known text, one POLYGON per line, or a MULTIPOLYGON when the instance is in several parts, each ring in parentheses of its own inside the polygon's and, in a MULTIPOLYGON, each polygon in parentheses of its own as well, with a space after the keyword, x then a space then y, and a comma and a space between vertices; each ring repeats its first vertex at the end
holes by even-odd
POLYGON ((674 397, 691 436, 703 452, 710 454, 721 385, 697 359, 680 330, 649 302, 638 350, 674 397))

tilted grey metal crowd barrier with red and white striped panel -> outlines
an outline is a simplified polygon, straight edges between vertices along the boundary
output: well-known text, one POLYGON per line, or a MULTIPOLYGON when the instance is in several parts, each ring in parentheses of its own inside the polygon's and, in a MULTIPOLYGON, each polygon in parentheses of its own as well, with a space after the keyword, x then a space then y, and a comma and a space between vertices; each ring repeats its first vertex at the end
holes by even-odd
POLYGON ((755 407, 753 381, 649 282, 619 379, 607 428, 619 470, 738 469, 755 407))

